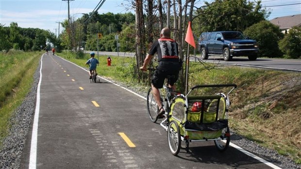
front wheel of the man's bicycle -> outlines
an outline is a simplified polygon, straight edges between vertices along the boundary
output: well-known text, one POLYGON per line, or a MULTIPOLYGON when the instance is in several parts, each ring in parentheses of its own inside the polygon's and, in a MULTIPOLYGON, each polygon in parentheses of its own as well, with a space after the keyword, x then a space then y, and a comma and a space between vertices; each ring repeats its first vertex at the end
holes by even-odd
POLYGON ((148 95, 147 95, 147 109, 148 109, 148 113, 149 113, 149 117, 151 119, 152 122, 156 122, 157 121, 157 112, 159 111, 159 107, 155 101, 155 98, 152 94, 152 89, 150 88, 148 91, 148 95))

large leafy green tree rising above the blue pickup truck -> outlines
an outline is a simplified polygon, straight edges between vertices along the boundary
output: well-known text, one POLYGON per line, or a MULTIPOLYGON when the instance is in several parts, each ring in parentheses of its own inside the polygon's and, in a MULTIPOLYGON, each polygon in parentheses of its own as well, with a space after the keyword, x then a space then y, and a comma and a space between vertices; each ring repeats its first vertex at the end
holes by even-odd
POLYGON ((261 1, 215 0, 195 12, 196 33, 212 31, 241 31, 269 16, 261 1))

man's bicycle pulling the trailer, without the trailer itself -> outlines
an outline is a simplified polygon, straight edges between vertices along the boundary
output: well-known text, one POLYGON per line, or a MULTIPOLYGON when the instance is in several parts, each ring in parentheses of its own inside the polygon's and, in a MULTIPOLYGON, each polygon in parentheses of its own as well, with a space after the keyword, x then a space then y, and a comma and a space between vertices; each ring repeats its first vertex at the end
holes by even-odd
MULTIPOLYGON (((154 71, 156 69, 148 68, 148 70, 154 71)), ((163 85, 163 88, 159 90, 160 90, 160 99, 162 102, 162 106, 165 110, 164 116, 166 116, 169 113, 170 103, 173 97, 177 94, 177 92, 173 91, 173 89, 169 88, 167 85, 163 85)), ((155 123, 158 120, 157 114, 159 111, 159 106, 157 105, 155 98, 153 97, 151 87, 149 88, 147 94, 147 110, 151 121, 155 123)))

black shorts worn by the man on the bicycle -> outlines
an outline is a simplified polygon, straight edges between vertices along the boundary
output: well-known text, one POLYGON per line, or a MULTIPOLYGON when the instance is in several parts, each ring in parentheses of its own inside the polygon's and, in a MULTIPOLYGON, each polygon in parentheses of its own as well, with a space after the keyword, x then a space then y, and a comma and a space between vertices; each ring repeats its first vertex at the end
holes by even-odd
POLYGON ((167 78, 167 84, 174 85, 179 78, 179 70, 179 63, 160 62, 152 76, 151 84, 156 88, 162 88, 164 81, 167 78))

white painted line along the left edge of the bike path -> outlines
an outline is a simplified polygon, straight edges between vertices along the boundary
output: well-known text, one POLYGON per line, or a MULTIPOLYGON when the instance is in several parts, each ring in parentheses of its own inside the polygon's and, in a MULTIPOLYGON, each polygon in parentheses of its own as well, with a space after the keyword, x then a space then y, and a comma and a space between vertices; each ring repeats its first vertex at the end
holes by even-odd
POLYGON ((39 122, 39 113, 40 113, 40 88, 41 88, 41 81, 42 81, 43 55, 41 57, 40 79, 36 90, 36 103, 35 103, 35 112, 33 118, 33 134, 32 134, 32 143, 30 147, 30 158, 29 158, 29 167, 28 167, 29 169, 36 168, 37 131, 38 131, 38 122, 39 122))

